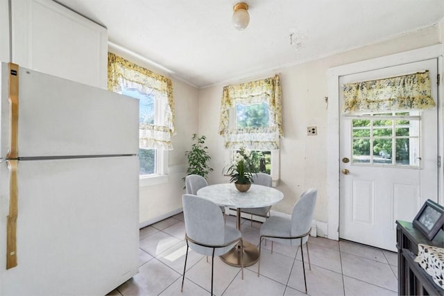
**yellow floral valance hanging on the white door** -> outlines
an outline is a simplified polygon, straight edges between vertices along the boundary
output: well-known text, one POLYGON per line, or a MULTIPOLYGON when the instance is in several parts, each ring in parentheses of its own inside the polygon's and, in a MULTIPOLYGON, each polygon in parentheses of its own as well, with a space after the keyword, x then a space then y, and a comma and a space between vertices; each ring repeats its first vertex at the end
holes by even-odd
POLYGON ((435 107, 429 71, 343 85, 343 113, 368 114, 435 107))

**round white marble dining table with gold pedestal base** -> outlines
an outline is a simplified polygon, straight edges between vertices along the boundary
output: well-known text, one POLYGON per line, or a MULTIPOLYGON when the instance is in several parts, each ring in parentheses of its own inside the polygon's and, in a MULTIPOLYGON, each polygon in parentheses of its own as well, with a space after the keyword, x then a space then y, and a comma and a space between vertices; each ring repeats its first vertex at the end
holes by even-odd
MULTIPOLYGON (((241 208, 266 207, 276 204, 284 198, 284 193, 273 187, 251 184, 246 192, 240 192, 234 184, 214 184, 205 186, 197 191, 201 198, 211 200, 219 206, 237 209, 237 229, 241 230, 241 208)), ((241 246, 236 245, 228 253, 221 256, 222 261, 232 266, 250 266, 259 259, 257 246, 243 240, 244 254, 241 254, 241 246)))

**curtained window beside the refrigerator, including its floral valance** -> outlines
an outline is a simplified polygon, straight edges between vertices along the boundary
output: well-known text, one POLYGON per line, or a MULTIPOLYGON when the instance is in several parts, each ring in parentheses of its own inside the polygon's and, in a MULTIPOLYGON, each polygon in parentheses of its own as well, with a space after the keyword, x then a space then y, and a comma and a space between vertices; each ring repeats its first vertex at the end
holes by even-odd
POLYGON ((171 80, 108 53, 108 88, 139 99, 140 177, 166 174, 175 134, 171 80))

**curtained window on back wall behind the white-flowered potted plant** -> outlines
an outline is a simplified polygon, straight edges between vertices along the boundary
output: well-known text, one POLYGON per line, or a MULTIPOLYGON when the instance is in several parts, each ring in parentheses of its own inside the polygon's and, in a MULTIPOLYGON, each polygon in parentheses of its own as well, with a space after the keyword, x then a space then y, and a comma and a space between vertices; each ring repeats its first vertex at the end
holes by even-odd
POLYGON ((266 78, 223 88, 219 132, 225 148, 253 152, 257 167, 279 180, 279 139, 282 136, 280 78, 266 78))

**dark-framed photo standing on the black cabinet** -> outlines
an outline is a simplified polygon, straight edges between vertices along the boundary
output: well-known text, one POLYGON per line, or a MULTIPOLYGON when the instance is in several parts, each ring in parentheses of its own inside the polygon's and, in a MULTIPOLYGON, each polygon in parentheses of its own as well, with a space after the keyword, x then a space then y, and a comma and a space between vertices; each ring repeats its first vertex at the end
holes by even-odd
POLYGON ((439 232, 444 224, 444 207, 427 200, 416 214, 413 225, 422 232, 430 241, 439 232))

